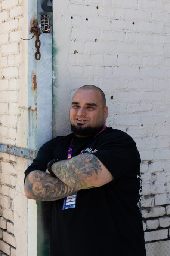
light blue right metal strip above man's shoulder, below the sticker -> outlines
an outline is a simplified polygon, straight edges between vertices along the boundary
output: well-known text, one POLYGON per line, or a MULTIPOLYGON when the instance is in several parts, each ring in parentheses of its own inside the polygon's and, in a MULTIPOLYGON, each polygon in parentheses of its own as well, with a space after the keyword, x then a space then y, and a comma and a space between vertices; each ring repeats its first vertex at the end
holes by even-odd
POLYGON ((38 0, 37 13, 38 26, 41 30, 41 59, 37 61, 37 149, 39 149, 42 144, 52 139, 52 1, 38 0), (41 16, 46 16, 45 19, 48 16, 50 33, 42 33, 41 16))

